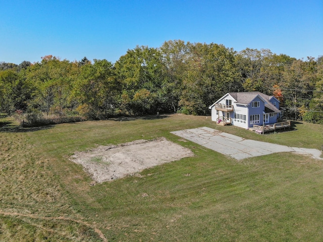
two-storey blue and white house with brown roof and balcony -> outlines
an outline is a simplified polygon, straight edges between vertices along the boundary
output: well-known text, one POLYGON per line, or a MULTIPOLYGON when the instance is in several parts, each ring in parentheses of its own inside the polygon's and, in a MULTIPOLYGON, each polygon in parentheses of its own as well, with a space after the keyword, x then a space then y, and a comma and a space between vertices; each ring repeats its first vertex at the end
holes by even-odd
POLYGON ((241 128, 253 128, 277 123, 282 115, 280 101, 274 96, 260 92, 229 92, 214 102, 211 119, 219 125, 235 125, 241 128))

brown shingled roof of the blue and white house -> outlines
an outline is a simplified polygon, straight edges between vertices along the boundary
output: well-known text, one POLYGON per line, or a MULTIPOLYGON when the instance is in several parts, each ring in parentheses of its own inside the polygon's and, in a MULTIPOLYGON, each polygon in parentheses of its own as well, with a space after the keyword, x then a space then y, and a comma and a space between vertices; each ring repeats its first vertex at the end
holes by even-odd
MULTIPOLYGON (((268 96, 261 92, 229 92, 226 95, 224 95, 222 98, 220 98, 216 103, 218 103, 228 94, 235 100, 236 103, 245 104, 245 105, 250 104, 258 96, 264 102, 265 112, 280 112, 280 110, 270 102, 270 99, 272 99, 273 96, 268 96)), ((213 105, 211 105, 210 107, 212 107, 213 105)))

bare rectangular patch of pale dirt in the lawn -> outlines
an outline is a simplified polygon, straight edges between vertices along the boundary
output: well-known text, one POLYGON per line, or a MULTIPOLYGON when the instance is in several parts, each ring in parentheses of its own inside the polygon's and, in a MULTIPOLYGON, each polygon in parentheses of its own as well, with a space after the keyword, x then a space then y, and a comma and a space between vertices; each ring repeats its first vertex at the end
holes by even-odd
POLYGON ((83 165, 93 180, 102 183, 193 155, 191 150, 159 138, 137 140, 117 146, 99 146, 89 151, 77 152, 71 160, 83 165))

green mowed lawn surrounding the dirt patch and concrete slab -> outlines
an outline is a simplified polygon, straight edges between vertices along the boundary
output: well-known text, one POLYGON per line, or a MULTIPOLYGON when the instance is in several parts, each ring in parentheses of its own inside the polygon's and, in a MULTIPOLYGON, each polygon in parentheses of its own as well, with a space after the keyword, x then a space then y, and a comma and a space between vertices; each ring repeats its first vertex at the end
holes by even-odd
POLYGON ((1 120, 0 241, 323 240, 321 160, 281 153, 237 161, 170 134, 207 126, 321 149, 318 125, 293 123, 290 132, 257 135, 180 114, 37 129, 1 120), (95 186, 69 160, 75 151, 157 137, 195 156, 95 186))

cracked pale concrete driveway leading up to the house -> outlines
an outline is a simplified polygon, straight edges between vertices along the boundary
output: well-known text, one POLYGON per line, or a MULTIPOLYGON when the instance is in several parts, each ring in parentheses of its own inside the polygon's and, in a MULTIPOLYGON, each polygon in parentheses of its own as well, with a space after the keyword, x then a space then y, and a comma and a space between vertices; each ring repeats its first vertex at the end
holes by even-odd
POLYGON ((174 135, 202 145, 237 160, 268 155, 278 152, 295 152, 320 158, 321 151, 316 149, 288 147, 261 141, 246 140, 239 136, 227 134, 207 127, 171 132, 174 135))

